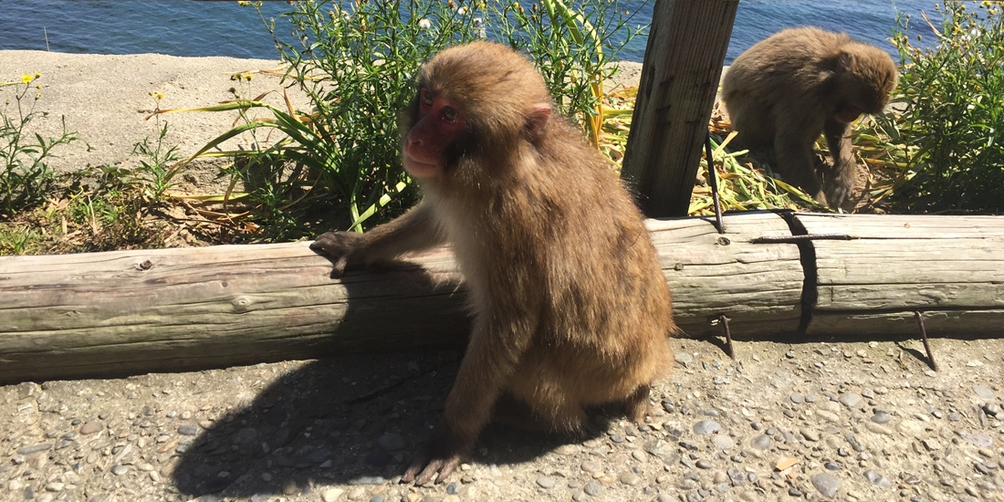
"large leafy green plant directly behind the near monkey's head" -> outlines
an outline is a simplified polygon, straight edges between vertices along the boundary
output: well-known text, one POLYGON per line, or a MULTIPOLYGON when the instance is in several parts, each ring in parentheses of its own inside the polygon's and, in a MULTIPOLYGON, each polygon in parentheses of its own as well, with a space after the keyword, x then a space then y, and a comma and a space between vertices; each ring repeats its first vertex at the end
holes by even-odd
MULTIPOLYGON (((361 232, 363 224, 391 218, 415 202, 417 193, 401 165, 398 128, 399 113, 414 96, 419 65, 448 45, 491 34, 538 58, 562 110, 582 116, 597 144, 602 80, 615 71, 608 63, 616 44, 602 30, 624 26, 605 17, 612 16, 615 2, 586 0, 572 8, 549 0, 547 16, 538 17, 517 14, 509 3, 498 5, 299 2, 284 15, 298 44, 280 40, 275 21, 263 19, 289 64, 284 78, 307 95, 310 109, 295 109, 287 96, 284 107, 264 102, 264 95, 248 98, 251 75, 235 75, 239 88, 231 89, 230 102, 158 110, 236 110, 243 117, 175 169, 200 157, 233 159, 226 170, 233 177, 231 190, 200 199, 222 200, 227 207, 239 200, 227 219, 251 219, 270 239, 313 233, 304 225, 318 224, 320 213, 326 213, 327 227, 361 232), (489 32, 492 23, 497 26, 489 32), (555 37, 571 41, 555 44, 555 37), (252 116, 256 109, 266 115, 252 116), (245 144, 251 148, 219 150, 240 138, 250 138, 245 144), (234 190, 238 182, 242 192, 234 190)), ((612 140, 601 148, 614 151, 621 133, 604 135, 612 140)))

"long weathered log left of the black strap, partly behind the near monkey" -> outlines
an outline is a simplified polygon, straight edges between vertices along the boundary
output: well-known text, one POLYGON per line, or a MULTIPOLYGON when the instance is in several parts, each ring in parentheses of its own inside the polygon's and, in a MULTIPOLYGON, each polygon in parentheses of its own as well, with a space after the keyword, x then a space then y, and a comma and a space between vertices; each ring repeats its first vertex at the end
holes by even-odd
MULTIPOLYGON (((777 215, 649 221, 675 313, 692 335, 797 326, 797 247, 777 215), (727 239, 723 241, 722 238, 727 239)), ((308 243, 0 257, 0 383, 122 375, 461 344, 452 253, 331 279, 308 243)))

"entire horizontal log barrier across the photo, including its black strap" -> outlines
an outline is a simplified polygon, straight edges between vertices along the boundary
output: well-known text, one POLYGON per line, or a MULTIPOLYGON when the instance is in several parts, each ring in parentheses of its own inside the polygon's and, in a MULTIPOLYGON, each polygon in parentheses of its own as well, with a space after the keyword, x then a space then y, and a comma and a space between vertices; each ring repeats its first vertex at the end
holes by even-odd
MULTIPOLYGON (((649 220, 690 336, 1004 332, 1004 218, 649 220), (804 236, 804 237, 802 237, 804 236), (844 236, 834 238, 833 236, 844 236)), ((461 344, 451 253, 328 276, 306 242, 0 257, 0 383, 461 344)))

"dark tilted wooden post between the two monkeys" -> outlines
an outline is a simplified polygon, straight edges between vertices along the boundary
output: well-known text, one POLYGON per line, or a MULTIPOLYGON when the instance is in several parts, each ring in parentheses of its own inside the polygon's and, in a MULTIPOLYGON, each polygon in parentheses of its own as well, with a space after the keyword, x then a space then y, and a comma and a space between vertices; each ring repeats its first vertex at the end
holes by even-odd
POLYGON ((687 216, 738 0, 658 0, 621 177, 649 217, 687 216))

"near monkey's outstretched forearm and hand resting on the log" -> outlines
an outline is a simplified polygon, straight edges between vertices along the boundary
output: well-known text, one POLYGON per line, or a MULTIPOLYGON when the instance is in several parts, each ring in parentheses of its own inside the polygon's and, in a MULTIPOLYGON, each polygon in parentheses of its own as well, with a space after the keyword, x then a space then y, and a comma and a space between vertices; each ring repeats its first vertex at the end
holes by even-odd
POLYGON ((364 234, 336 231, 322 234, 310 244, 310 249, 331 257, 334 260, 331 276, 340 277, 346 266, 371 265, 444 242, 432 208, 422 203, 364 234))

